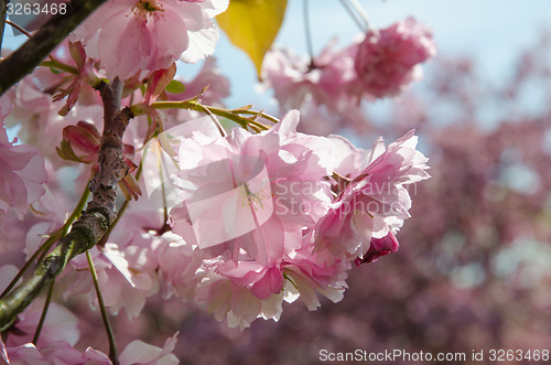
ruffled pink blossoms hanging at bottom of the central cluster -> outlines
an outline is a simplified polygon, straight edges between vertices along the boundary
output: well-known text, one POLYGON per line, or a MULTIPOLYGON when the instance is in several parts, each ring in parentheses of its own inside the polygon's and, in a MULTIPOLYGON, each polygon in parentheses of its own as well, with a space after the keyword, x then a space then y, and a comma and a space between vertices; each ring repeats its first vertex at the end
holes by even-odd
POLYGON ((333 302, 343 299, 349 265, 327 250, 313 253, 311 235, 301 247, 282 255, 276 265, 266 266, 244 255, 238 264, 205 260, 198 270, 201 282, 196 300, 215 319, 241 330, 257 318, 278 321, 282 303, 301 299, 311 311, 320 307, 317 293, 333 302))

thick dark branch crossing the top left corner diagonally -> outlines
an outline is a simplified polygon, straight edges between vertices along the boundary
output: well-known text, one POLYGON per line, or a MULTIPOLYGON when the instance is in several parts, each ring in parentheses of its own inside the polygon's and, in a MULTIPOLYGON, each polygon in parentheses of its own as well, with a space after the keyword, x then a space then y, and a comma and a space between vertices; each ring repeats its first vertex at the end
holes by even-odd
POLYGON ((106 0, 71 0, 67 12, 53 15, 34 35, 0 62, 0 96, 31 73, 78 24, 106 0))

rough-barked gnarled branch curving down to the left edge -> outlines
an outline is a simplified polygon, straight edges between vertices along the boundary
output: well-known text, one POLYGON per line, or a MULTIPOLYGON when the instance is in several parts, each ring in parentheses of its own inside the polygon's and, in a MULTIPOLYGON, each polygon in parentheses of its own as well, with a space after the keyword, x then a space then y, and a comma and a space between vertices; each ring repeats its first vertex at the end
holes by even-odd
POLYGON ((99 172, 90 182, 93 200, 71 232, 42 260, 33 273, 0 300, 0 331, 8 329, 40 292, 60 275, 75 256, 93 248, 117 217, 117 185, 128 171, 122 160, 122 135, 133 117, 129 108, 120 108, 121 83, 101 84, 104 133, 98 153, 99 172))

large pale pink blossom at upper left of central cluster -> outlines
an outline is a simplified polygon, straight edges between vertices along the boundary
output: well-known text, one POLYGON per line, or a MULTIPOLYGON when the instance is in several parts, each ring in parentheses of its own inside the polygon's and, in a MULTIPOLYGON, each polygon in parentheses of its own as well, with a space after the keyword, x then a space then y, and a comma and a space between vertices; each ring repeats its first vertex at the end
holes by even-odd
POLYGON ((269 267, 299 247, 331 200, 327 167, 311 147, 318 138, 298 133, 298 122, 292 111, 259 135, 185 140, 176 179, 185 204, 171 212, 173 230, 209 257, 237 261, 241 248, 269 267))

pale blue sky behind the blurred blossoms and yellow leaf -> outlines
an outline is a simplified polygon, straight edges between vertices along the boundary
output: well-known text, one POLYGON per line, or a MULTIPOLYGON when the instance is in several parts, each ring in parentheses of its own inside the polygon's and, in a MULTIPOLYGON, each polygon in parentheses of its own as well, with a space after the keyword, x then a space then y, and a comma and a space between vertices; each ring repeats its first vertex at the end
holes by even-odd
MULTIPOLYGON (((439 54, 471 55, 488 79, 498 79, 515 66, 519 51, 532 45, 551 26, 550 0, 359 0, 375 26, 414 17, 431 26, 439 54)), ((314 50, 338 36, 346 45, 360 31, 339 0, 310 0, 314 50)), ((276 43, 306 53, 303 0, 289 0, 276 43)), ((223 34, 216 50, 219 66, 233 85, 229 107, 255 104, 268 109, 266 96, 255 95, 256 72, 246 55, 223 34)))

